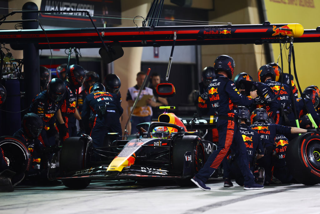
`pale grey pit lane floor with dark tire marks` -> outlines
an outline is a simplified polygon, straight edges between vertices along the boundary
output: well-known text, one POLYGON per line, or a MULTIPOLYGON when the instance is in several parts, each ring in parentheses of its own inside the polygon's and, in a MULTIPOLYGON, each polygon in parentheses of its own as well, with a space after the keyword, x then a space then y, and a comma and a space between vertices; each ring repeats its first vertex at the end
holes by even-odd
POLYGON ((320 185, 271 185, 243 190, 221 179, 211 191, 174 183, 142 185, 128 181, 96 182, 83 190, 57 186, 17 186, 0 193, 0 213, 319 213, 320 185))

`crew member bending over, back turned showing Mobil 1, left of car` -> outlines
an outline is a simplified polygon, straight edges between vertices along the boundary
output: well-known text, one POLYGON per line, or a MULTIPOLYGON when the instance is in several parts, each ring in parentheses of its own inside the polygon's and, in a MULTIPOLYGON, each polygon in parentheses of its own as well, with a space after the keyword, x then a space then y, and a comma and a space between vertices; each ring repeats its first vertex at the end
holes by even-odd
POLYGON ((104 146, 103 142, 108 133, 122 133, 120 116, 123 109, 117 95, 106 92, 100 82, 94 83, 89 92, 90 94, 84 98, 81 115, 86 133, 90 134, 92 138, 93 147, 98 148, 104 146), (90 132, 88 122, 91 110, 95 114, 95 118, 90 132))

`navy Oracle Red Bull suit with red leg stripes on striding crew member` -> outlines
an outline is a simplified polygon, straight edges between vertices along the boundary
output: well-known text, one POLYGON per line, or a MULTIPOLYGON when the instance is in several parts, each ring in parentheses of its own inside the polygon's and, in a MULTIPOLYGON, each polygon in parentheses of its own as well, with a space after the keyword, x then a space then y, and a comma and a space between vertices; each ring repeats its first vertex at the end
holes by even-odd
POLYGON ((240 157, 238 166, 244 175, 244 184, 250 185, 254 183, 254 177, 250 172, 247 151, 243 141, 240 140, 241 135, 240 132, 238 132, 234 118, 236 117, 235 113, 237 113, 235 104, 250 106, 253 103, 253 99, 241 95, 236 90, 235 84, 221 74, 216 75, 216 79, 212 80, 208 89, 212 106, 210 111, 212 113, 216 112, 218 115, 217 128, 219 144, 217 150, 213 151, 204 164, 204 167, 199 170, 195 177, 206 182, 220 166, 223 158, 227 156, 232 142, 234 142, 240 157))

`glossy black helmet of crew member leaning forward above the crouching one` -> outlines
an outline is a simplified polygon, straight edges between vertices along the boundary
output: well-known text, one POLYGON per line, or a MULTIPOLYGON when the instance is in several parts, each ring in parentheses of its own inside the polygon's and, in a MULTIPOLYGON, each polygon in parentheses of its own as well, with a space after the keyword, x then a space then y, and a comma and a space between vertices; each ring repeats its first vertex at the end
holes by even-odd
POLYGON ((47 93, 49 95, 49 98, 57 102, 59 101, 64 93, 66 92, 66 85, 64 84, 64 81, 59 78, 53 78, 49 83, 47 87, 47 93))

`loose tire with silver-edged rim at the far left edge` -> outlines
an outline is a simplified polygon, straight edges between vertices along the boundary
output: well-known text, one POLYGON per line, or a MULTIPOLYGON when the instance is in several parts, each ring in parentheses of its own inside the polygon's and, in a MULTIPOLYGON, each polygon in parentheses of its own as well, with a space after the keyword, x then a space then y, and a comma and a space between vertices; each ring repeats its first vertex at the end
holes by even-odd
POLYGON ((22 142, 11 136, 3 136, 0 137, 0 147, 11 171, 20 174, 29 170, 31 155, 22 142))

